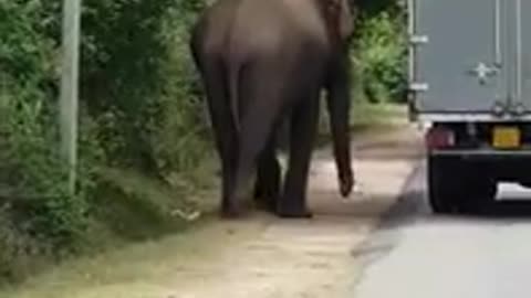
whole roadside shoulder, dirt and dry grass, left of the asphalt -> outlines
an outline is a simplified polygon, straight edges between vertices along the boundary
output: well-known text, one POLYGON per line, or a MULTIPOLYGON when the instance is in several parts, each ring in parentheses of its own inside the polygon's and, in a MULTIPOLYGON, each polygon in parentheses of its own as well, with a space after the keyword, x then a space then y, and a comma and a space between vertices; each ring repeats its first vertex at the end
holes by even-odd
POLYGON ((311 220, 258 212, 212 219, 180 235, 67 264, 6 297, 352 297, 363 272, 352 252, 421 158, 419 132, 400 126, 365 134, 353 141, 353 152, 360 184, 348 199, 337 193, 329 149, 314 153, 311 220))

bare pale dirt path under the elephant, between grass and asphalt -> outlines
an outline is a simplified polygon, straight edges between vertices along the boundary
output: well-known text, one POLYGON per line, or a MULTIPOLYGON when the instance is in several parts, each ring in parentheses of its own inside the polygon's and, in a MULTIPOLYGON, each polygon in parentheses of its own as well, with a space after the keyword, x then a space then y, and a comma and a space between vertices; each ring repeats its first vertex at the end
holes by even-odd
POLYGON ((361 267, 351 252, 394 203, 420 152, 409 128, 354 141, 353 149, 361 187, 352 198, 340 198, 330 152, 317 152, 310 181, 314 219, 270 219, 211 269, 176 277, 187 281, 176 281, 171 297, 352 297, 361 267))

